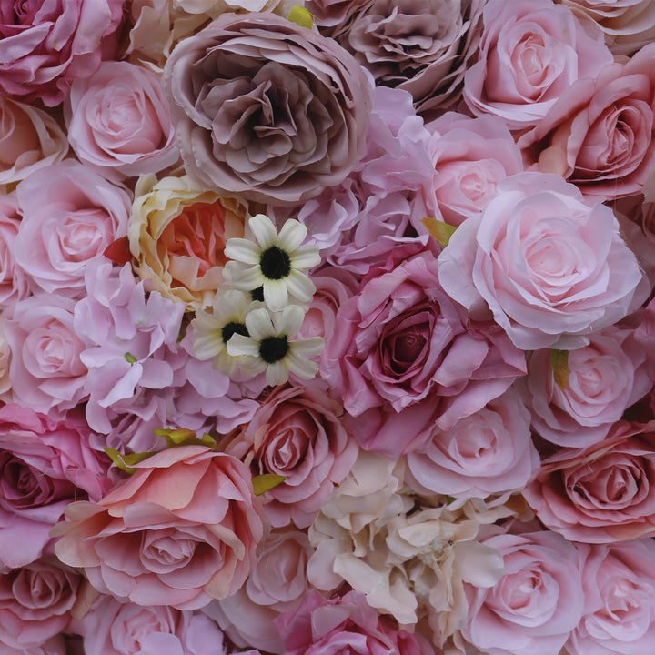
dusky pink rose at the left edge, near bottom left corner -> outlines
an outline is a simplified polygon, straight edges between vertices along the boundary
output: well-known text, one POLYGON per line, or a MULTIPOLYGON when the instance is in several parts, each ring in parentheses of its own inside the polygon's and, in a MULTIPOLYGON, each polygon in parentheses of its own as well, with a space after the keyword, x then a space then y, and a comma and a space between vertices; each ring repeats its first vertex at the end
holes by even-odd
POLYGON ((0 574, 0 642, 28 649, 64 631, 81 580, 46 559, 0 574))

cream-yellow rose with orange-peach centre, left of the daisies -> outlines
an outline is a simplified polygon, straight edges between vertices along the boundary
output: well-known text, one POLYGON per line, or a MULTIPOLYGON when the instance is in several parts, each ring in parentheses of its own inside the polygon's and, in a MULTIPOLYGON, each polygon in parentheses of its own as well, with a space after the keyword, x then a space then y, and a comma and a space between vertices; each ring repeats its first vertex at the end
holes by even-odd
POLYGON ((223 282, 227 239, 244 237, 247 207, 188 176, 140 177, 127 230, 136 271, 188 309, 211 305, 223 282))

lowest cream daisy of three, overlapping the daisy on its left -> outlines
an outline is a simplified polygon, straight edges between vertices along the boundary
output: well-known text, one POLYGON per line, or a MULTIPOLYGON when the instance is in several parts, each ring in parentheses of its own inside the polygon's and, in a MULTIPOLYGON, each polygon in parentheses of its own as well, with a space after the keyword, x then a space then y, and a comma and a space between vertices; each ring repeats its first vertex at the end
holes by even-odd
POLYGON ((267 384, 287 382, 289 371, 301 379, 314 378, 318 371, 312 357, 323 349, 321 337, 291 338, 302 325, 305 311, 297 305, 287 305, 281 312, 269 312, 262 307, 249 312, 246 327, 249 336, 235 334, 227 343, 227 352, 234 356, 252 358, 253 368, 266 370, 267 384))

